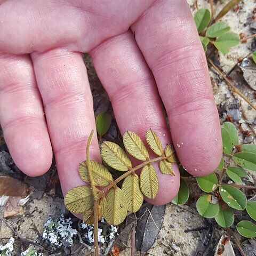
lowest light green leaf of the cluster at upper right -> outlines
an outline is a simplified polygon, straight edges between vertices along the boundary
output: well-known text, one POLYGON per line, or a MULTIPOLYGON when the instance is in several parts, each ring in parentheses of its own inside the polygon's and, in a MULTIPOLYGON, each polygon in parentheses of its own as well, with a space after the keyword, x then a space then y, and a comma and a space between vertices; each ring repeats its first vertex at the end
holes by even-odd
POLYGON ((239 43, 240 43, 239 35, 237 35, 233 32, 223 34, 223 35, 217 37, 216 41, 213 42, 215 47, 223 54, 228 53, 230 47, 236 46, 239 43))

